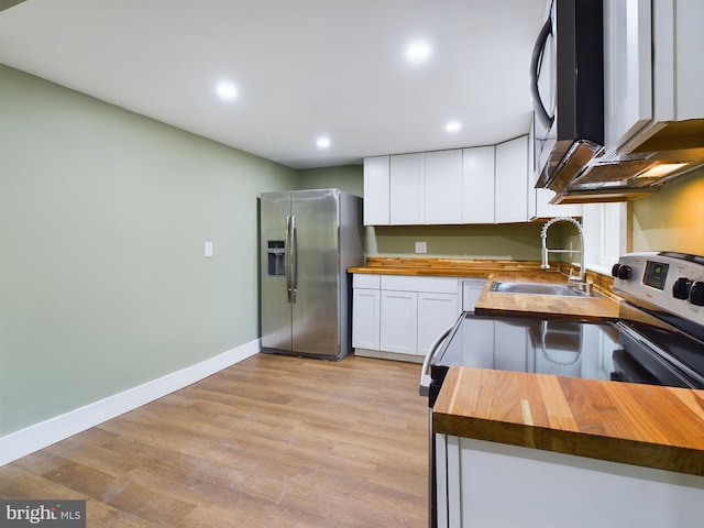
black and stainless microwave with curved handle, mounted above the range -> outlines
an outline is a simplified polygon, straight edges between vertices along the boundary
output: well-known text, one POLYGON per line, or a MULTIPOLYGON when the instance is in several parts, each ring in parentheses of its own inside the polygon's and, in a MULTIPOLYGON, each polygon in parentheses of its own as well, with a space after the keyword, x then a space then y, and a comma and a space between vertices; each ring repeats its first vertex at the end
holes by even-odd
POLYGON ((602 0, 552 0, 530 77, 534 175, 547 187, 568 153, 588 161, 604 145, 602 0))

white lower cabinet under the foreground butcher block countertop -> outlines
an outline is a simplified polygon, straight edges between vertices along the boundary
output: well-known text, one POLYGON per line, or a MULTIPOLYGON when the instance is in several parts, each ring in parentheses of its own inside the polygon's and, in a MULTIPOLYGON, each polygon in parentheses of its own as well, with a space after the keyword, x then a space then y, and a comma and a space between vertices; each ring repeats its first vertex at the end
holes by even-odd
POLYGON ((704 477, 436 435, 438 527, 702 526, 704 477))

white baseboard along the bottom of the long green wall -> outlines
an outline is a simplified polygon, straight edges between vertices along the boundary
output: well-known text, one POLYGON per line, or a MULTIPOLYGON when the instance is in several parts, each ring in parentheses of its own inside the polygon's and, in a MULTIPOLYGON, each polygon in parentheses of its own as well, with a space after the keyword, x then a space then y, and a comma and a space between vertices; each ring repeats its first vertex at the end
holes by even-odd
POLYGON ((78 409, 0 437, 0 465, 154 402, 261 351, 258 339, 78 409))

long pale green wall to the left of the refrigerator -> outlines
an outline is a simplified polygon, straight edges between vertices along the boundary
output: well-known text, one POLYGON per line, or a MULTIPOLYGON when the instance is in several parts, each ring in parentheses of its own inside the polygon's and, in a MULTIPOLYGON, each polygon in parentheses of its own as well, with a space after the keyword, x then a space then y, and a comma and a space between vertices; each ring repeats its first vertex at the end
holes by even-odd
POLYGON ((0 66, 0 436, 256 339, 256 196, 298 179, 0 66))

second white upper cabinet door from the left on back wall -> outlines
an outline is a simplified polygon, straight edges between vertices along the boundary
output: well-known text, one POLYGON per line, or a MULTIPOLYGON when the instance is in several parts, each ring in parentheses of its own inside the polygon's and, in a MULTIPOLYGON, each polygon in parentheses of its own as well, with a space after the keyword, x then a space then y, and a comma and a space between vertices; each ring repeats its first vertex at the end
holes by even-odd
POLYGON ((391 156, 391 223, 425 221, 425 154, 391 156))

